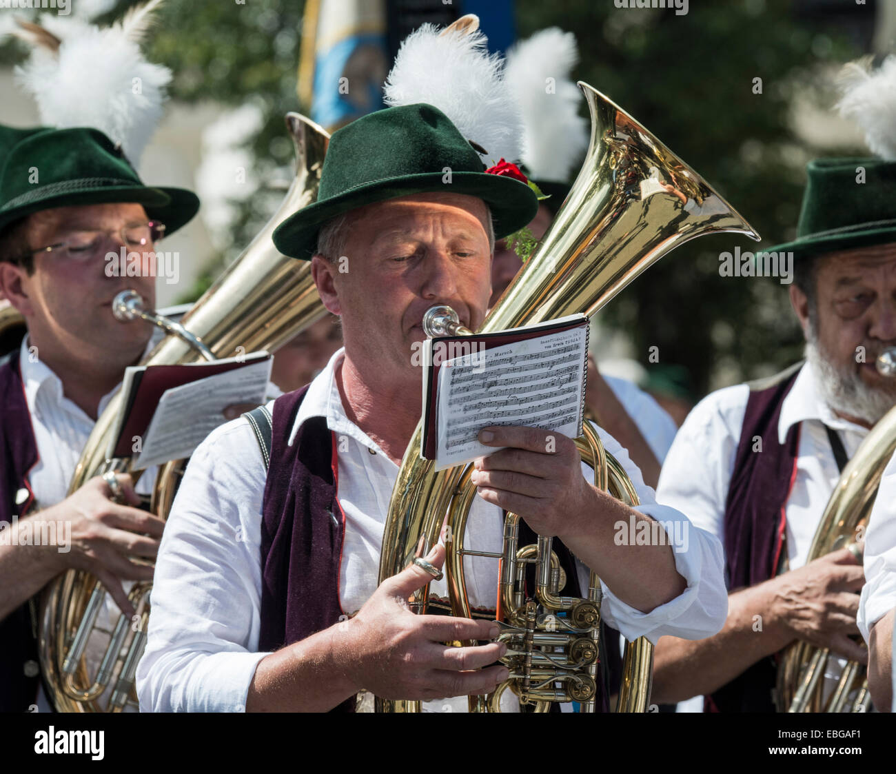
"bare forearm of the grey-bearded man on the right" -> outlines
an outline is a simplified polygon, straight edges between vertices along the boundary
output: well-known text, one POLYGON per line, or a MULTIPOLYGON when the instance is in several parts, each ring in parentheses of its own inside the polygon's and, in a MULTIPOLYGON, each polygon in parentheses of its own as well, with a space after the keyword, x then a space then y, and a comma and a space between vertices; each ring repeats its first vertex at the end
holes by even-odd
POLYGON ((695 641, 661 637, 653 655, 651 700, 671 704, 714 692, 788 645, 792 637, 772 612, 772 583, 730 594, 725 626, 713 637, 695 641))

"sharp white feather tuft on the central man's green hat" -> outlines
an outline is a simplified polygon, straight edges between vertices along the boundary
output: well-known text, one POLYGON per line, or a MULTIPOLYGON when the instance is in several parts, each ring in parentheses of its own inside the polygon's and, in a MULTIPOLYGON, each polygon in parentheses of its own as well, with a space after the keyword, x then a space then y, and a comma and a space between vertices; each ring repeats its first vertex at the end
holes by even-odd
POLYGON ((404 39, 383 94, 390 107, 425 102, 438 107, 461 134, 486 150, 487 166, 517 161, 521 152, 520 108, 502 80, 503 61, 487 53, 478 30, 439 34, 424 24, 404 39))

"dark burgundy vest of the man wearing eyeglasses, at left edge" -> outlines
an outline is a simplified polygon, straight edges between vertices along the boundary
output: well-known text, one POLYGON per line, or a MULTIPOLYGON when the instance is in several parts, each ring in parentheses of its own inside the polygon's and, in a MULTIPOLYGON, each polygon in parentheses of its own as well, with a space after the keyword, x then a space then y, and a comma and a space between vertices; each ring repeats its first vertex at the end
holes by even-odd
MULTIPOLYGON (((13 516, 21 517, 30 507, 34 495, 28 472, 37 461, 16 348, 0 359, 0 522, 12 523, 13 516), (28 497, 16 503, 22 489, 28 490, 28 497)), ((0 621, 0 712, 27 712, 37 700, 39 675, 33 667, 38 650, 29 604, 0 621), (26 669, 35 674, 26 674, 26 669)))

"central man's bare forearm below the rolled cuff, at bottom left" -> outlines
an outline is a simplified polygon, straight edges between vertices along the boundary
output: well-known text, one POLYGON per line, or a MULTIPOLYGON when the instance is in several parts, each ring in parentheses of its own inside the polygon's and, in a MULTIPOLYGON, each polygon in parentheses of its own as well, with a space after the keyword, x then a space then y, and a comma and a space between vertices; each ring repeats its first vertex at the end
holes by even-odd
POLYGON ((246 712, 325 712, 357 693, 341 664, 331 626, 258 662, 246 712))

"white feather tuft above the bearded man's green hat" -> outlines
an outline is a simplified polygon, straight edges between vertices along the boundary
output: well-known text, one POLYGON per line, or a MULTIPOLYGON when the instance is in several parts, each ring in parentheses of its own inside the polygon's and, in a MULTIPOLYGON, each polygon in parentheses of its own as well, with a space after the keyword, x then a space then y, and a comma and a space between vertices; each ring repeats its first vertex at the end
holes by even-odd
POLYGON ((896 161, 896 56, 887 56, 874 72, 870 59, 850 62, 838 82, 840 115, 859 125, 876 156, 896 161))

